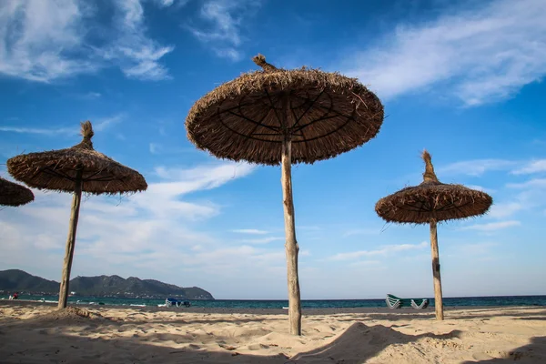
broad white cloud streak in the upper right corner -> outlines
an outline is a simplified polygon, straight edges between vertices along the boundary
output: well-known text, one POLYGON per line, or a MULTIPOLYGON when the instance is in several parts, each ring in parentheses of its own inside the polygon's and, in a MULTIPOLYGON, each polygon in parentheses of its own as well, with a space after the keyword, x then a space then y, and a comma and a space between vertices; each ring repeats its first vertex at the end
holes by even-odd
POLYGON ((390 98, 447 89, 467 106, 513 96, 546 74, 543 0, 473 2, 420 25, 399 25, 351 57, 351 76, 390 98), (439 86, 432 88, 432 86, 439 86))

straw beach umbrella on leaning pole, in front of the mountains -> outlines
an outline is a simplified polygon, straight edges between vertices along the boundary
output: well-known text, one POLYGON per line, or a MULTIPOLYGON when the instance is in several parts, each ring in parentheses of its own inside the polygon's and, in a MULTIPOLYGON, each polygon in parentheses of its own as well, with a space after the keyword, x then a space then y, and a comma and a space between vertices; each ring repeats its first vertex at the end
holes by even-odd
POLYGON ((29 187, 74 193, 59 290, 59 308, 66 308, 68 298, 82 191, 94 195, 114 195, 147 189, 146 180, 136 170, 117 163, 93 148, 91 122, 81 123, 81 126, 83 140, 74 147, 29 153, 7 161, 8 172, 29 187))

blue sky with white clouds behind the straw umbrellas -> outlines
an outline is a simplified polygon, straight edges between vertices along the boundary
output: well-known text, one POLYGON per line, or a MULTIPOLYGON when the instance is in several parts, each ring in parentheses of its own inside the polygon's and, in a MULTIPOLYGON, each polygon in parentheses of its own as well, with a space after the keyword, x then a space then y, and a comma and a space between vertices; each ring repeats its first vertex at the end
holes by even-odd
MULTIPOLYGON (((429 230, 385 225, 380 197, 440 180, 494 198, 439 227, 444 296, 545 294, 546 3, 6 0, 0 156, 97 150, 146 193, 86 197, 73 277, 117 274, 216 298, 287 298, 280 168, 217 160, 187 141, 200 96, 262 53, 359 77, 386 118, 364 147, 293 169, 302 298, 432 297, 429 230)), ((0 175, 8 177, 5 165, 0 175)), ((0 268, 60 277, 71 196, 0 211, 0 268)))

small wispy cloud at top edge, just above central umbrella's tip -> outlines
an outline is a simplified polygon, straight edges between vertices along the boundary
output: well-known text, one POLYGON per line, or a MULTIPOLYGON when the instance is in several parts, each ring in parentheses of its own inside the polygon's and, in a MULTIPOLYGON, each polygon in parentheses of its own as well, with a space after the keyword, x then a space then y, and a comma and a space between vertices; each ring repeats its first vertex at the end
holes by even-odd
POLYGON ((208 26, 187 26, 201 42, 211 45, 217 56, 238 61, 242 20, 260 5, 250 0, 207 0, 200 9, 200 17, 208 26))

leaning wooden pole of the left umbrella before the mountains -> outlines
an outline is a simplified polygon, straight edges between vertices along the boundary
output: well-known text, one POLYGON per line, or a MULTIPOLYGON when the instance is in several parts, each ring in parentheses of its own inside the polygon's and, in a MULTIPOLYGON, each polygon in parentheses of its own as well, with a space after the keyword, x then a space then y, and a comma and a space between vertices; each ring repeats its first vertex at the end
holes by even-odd
POLYGON ((70 281, 70 270, 72 269, 72 258, 74 258, 74 248, 76 246, 76 228, 77 218, 79 217, 79 207, 82 199, 82 175, 83 169, 76 171, 76 181, 74 187, 74 197, 72 197, 72 209, 70 211, 70 224, 68 226, 68 238, 66 238, 65 261, 63 265, 63 276, 61 278, 61 287, 59 289, 58 308, 66 308, 68 301, 68 289, 70 281))

